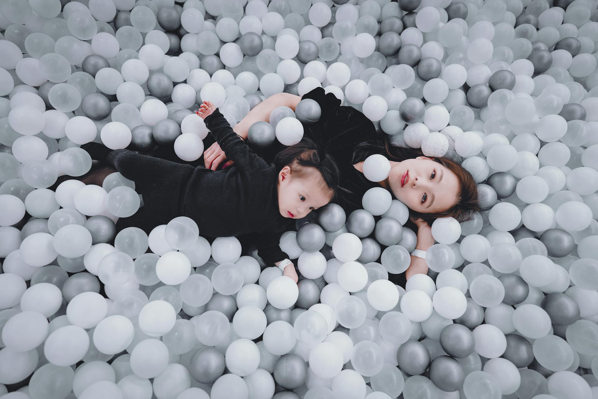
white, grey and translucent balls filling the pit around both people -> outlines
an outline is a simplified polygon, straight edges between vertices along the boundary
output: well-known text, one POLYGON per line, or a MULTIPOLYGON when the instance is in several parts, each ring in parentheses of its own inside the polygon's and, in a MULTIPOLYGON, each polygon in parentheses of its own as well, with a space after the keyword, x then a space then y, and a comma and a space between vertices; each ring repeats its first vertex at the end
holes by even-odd
MULTIPOLYGON (((595 397, 597 48, 585 0, 0 2, 0 398, 595 397), (234 126, 315 87, 478 184, 405 289, 417 234, 385 188, 283 234, 295 284, 186 217, 117 234, 135 183, 76 179, 83 144, 193 162, 199 103, 234 126)), ((249 144, 328 111, 278 106, 249 144)))

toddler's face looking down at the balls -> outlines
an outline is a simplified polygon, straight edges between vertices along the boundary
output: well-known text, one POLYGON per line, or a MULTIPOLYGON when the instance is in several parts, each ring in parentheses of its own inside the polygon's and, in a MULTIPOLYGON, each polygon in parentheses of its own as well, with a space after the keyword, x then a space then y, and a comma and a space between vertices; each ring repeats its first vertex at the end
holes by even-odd
POLYGON ((322 190, 320 182, 307 178, 285 177, 278 185, 278 207, 285 218, 301 219, 313 209, 321 208, 332 199, 332 190, 322 190))

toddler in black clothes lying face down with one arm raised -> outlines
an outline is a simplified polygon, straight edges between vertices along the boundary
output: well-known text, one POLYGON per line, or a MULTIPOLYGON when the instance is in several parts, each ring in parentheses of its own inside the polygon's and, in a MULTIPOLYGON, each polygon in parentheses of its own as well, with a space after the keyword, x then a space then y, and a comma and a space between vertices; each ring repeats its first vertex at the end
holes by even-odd
POLYGON ((224 170, 192 167, 129 150, 84 144, 92 159, 114 166, 136 182, 144 206, 117 229, 145 226, 151 230, 172 218, 196 221, 202 236, 230 237, 260 233, 258 255, 297 281, 295 267, 279 247, 280 234, 292 219, 327 205, 339 187, 334 159, 304 139, 277 154, 274 165, 254 154, 211 102, 197 112, 234 165, 224 170))

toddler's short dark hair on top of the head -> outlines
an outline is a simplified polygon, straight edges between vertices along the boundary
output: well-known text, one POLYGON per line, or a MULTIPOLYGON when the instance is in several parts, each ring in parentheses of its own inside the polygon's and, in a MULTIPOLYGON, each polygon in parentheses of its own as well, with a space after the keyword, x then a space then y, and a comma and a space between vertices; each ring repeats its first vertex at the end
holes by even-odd
POLYGON ((276 154, 274 159, 276 170, 283 167, 291 168, 291 175, 297 178, 309 178, 314 168, 322 176, 322 191, 332 190, 332 197, 336 197, 340 188, 340 170, 336 160, 312 139, 304 137, 298 144, 286 147, 276 154))

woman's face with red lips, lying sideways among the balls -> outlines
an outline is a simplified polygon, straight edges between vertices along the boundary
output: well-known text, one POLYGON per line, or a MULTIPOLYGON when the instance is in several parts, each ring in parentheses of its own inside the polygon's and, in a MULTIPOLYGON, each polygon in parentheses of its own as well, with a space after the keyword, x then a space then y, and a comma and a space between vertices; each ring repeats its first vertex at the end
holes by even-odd
POLYGON ((428 157, 395 163, 388 183, 396 199, 422 214, 446 211, 459 191, 457 175, 428 157))

